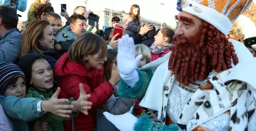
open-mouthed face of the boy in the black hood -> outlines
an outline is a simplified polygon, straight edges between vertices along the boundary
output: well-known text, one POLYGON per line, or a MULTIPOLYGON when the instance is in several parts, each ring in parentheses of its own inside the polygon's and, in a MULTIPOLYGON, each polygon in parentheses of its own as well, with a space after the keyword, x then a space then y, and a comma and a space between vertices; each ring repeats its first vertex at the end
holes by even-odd
POLYGON ((49 62, 38 59, 32 65, 30 84, 43 92, 48 92, 54 86, 53 72, 49 62))

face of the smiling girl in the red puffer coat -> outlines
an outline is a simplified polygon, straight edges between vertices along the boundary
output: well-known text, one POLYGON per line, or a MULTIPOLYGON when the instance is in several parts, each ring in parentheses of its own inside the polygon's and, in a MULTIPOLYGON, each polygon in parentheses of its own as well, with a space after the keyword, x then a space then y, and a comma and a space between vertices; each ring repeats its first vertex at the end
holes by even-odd
POLYGON ((101 66, 104 64, 105 61, 107 61, 107 57, 104 56, 99 60, 101 50, 95 54, 95 55, 88 55, 85 57, 88 62, 86 63, 87 69, 95 68, 95 69, 100 69, 101 66))

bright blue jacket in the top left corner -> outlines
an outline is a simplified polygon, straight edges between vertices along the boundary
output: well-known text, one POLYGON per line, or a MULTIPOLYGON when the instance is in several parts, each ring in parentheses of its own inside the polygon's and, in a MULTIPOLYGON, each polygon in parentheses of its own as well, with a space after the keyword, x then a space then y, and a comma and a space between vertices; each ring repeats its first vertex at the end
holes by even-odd
POLYGON ((14 10, 24 12, 27 9, 27 0, 0 0, 0 5, 12 7, 14 10))

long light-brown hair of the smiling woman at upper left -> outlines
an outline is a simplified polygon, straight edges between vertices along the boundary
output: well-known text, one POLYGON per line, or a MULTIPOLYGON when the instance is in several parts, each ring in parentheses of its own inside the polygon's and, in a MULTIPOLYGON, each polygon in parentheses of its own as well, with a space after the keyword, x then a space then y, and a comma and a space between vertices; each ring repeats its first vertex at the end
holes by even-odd
POLYGON ((43 50, 38 48, 38 40, 43 38, 43 30, 50 23, 46 20, 35 20, 28 25, 22 39, 21 57, 28 54, 31 49, 43 54, 43 50))

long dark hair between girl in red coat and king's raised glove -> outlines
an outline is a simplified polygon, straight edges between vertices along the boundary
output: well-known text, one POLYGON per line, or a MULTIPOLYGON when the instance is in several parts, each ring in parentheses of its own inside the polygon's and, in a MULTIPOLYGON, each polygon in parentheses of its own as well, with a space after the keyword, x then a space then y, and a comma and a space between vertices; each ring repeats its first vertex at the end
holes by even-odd
POLYGON ((111 67, 113 66, 113 60, 117 56, 117 50, 116 49, 108 49, 107 50, 107 61, 104 62, 104 77, 106 81, 109 81, 111 78, 111 67))

